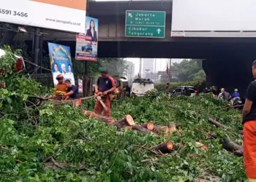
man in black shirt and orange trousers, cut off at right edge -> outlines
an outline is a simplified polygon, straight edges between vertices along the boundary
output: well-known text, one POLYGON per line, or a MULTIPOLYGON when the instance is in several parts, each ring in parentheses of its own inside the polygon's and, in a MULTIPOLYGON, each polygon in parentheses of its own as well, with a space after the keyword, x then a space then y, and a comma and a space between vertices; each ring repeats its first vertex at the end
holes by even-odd
MULTIPOLYGON (((256 60, 252 63, 256 79, 256 60)), ((242 112, 244 124, 244 167, 249 182, 256 181, 256 80, 247 88, 242 112)))

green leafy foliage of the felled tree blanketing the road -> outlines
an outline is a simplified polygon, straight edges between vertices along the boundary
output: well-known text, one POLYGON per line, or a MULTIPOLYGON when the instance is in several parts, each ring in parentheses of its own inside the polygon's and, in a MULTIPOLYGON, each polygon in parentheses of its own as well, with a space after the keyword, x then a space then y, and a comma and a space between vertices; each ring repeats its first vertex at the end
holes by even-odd
MULTIPOLYGON (((8 63, 8 61, 6 62, 8 63)), ((131 114, 135 122, 181 128, 154 135, 89 119, 80 108, 54 107, 29 95, 47 90, 24 76, 10 74, 0 89, 0 181, 244 181, 241 157, 222 149, 219 139, 241 144, 239 111, 219 109, 227 103, 209 95, 170 98, 147 95, 113 101, 116 119, 131 114), (208 117, 228 126, 218 129, 208 117), (207 132, 218 135, 209 139, 207 132), (170 140, 173 153, 156 156, 150 148, 170 140), (195 141, 208 146, 201 149, 195 141)), ((83 107, 92 110, 94 100, 83 107)))

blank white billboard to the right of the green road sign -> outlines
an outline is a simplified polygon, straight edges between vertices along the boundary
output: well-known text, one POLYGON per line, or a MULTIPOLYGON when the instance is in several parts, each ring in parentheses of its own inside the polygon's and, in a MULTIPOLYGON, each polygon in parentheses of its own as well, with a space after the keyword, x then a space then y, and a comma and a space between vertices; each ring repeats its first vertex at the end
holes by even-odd
POLYGON ((256 36, 255 0, 173 0, 171 36, 256 36))

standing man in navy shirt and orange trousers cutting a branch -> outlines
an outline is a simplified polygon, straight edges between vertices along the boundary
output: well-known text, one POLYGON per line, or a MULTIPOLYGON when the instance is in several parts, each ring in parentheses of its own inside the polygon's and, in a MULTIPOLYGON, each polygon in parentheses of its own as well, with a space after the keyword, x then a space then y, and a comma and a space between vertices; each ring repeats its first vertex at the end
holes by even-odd
MULTIPOLYGON (((105 111, 104 115, 110 116, 112 92, 116 90, 116 83, 115 80, 108 75, 108 71, 105 68, 100 69, 100 74, 101 76, 95 85, 94 97, 100 96, 102 98, 102 101, 108 108, 108 111, 105 111)), ((94 106, 95 114, 102 114, 103 109, 102 104, 97 100, 94 106)))

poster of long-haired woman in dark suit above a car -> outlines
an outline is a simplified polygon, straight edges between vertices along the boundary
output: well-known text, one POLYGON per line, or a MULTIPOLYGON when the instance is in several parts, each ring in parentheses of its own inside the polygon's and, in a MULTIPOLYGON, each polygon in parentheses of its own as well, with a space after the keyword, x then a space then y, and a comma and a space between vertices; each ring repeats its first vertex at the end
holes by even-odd
POLYGON ((98 19, 86 17, 86 34, 77 35, 75 59, 97 61, 98 19))

